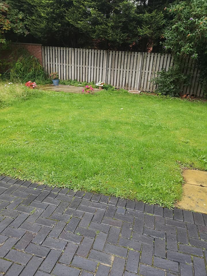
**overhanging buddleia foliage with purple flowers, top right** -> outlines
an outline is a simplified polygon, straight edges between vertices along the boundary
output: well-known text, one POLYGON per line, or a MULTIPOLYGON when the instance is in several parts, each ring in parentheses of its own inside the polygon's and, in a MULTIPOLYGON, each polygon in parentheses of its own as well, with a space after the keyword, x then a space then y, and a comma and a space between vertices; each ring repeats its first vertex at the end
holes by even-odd
POLYGON ((201 80, 207 83, 207 1, 186 0, 165 8, 169 25, 164 31, 164 48, 177 56, 181 67, 190 55, 198 60, 201 80))

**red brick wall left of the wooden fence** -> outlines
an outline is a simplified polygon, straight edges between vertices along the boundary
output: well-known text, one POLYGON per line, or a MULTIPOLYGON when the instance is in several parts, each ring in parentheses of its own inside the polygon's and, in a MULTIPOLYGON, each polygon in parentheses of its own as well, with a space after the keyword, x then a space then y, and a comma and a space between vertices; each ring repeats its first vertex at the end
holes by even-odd
MULTIPOLYGON (((11 60, 15 59, 15 57, 12 56, 12 51, 14 51, 18 47, 25 48, 31 55, 37 57, 40 64, 42 65, 42 45, 41 44, 33 44, 33 43, 12 43, 9 50, 4 50, 0 52, 0 60, 3 59, 7 62, 10 62, 11 60)), ((0 68, 1 72, 1 68, 0 68)))

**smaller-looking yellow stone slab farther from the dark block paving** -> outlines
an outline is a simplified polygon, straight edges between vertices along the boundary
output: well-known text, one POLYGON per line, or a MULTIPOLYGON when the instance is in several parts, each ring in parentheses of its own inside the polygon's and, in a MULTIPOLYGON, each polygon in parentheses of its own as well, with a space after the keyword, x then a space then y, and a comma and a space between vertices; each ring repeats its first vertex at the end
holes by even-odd
POLYGON ((184 170, 183 177, 185 183, 207 187, 207 172, 201 170, 184 170))

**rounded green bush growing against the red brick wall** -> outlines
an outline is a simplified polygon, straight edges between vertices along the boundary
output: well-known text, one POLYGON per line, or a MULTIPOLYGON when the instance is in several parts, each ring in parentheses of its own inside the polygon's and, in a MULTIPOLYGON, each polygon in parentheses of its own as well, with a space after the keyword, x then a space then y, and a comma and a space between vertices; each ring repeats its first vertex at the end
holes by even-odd
POLYGON ((50 83, 45 71, 36 57, 21 55, 10 71, 11 81, 20 80, 26 82, 31 80, 37 84, 50 83))

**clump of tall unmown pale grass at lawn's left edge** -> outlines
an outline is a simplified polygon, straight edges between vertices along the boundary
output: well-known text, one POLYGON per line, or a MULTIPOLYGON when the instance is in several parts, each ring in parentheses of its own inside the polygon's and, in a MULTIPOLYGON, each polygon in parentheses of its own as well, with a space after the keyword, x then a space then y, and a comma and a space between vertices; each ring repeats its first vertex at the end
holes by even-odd
POLYGON ((21 83, 0 82, 0 108, 37 97, 40 93, 39 89, 29 89, 21 83))

